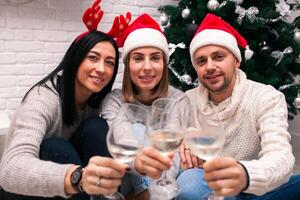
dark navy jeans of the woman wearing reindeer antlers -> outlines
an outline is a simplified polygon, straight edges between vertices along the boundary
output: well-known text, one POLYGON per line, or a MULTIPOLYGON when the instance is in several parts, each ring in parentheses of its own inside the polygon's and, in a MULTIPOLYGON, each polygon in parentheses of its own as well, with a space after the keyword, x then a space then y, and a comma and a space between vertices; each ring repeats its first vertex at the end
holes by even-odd
MULTIPOLYGON (((51 137, 43 140, 40 145, 40 159, 56 163, 87 165, 88 160, 95 155, 110 157, 106 146, 108 124, 100 117, 91 117, 83 121, 67 141, 63 138, 51 137)), ((62 200, 62 197, 43 198, 29 197, 0 191, 2 200, 62 200)), ((70 200, 89 200, 87 194, 73 195, 70 200)))

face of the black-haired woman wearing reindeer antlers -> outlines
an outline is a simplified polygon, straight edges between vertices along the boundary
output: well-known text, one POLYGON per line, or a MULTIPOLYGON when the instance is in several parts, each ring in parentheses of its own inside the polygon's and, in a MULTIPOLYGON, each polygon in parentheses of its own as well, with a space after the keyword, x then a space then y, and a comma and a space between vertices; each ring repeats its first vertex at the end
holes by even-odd
POLYGON ((80 64, 75 80, 77 101, 101 91, 112 79, 116 53, 108 41, 97 43, 80 64))

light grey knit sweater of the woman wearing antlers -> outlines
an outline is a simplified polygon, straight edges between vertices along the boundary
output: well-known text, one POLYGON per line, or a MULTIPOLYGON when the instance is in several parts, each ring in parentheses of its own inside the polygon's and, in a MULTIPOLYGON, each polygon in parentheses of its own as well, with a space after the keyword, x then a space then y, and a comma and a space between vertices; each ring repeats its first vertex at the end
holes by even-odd
POLYGON ((97 116, 99 111, 86 106, 78 113, 74 126, 66 127, 58 94, 45 87, 33 88, 10 125, 0 165, 1 187, 23 195, 66 197, 64 178, 70 165, 42 161, 39 151, 44 138, 69 139, 83 119, 97 116))

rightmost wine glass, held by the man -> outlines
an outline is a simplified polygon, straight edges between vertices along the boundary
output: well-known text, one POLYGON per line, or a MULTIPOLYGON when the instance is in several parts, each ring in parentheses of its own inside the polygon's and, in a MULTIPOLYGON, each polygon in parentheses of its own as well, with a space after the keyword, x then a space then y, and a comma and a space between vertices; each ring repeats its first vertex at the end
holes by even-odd
MULTIPOLYGON (((191 151, 203 160, 211 160, 218 155, 225 143, 225 129, 215 106, 208 104, 211 113, 201 116, 199 111, 192 112, 190 120, 194 127, 186 130, 185 142, 191 151), (197 119, 197 120, 195 120, 197 119)), ((208 200, 222 200, 223 197, 211 193, 208 200)))

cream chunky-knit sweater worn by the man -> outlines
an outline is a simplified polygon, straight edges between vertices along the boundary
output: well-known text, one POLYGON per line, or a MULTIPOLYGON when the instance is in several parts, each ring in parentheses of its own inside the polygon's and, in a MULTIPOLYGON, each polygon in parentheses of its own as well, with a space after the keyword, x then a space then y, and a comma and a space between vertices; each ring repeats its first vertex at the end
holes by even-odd
MULTIPOLYGON (((212 114, 208 91, 202 85, 187 91, 192 112, 199 118, 212 114)), ((237 70, 232 96, 216 106, 225 126, 221 156, 240 161, 249 174, 246 193, 262 195, 289 180, 295 158, 287 132, 287 105, 284 95, 271 86, 246 78, 237 70)))

